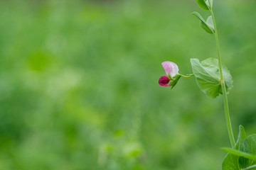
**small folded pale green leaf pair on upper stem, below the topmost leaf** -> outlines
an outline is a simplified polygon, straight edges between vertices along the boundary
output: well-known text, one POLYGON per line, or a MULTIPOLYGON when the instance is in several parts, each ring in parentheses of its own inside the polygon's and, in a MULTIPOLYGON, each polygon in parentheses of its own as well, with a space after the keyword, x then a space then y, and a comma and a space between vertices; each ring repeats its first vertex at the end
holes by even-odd
POLYGON ((206 30, 207 33, 210 33, 210 34, 215 33, 214 26, 213 26, 213 18, 211 16, 208 17, 207 21, 205 21, 200 13, 193 12, 192 14, 200 20, 201 28, 206 30))

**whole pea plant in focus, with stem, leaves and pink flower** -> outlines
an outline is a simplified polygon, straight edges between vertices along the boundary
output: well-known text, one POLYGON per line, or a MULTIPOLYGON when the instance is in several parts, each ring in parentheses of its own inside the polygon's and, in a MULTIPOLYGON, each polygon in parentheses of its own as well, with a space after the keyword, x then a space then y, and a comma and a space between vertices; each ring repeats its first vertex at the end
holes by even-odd
POLYGON ((233 79, 228 68, 221 62, 218 31, 213 15, 213 0, 196 0, 196 2, 203 10, 210 12, 210 16, 208 16, 206 20, 198 12, 193 12, 192 14, 200 20, 203 30, 215 36, 218 57, 208 58, 201 62, 196 58, 191 59, 193 74, 187 75, 179 74, 178 66, 174 62, 163 62, 162 66, 164 67, 166 75, 160 77, 159 85, 169 86, 173 89, 181 77, 195 76, 199 88, 207 96, 216 98, 221 94, 223 96, 225 120, 231 145, 231 147, 222 148, 228 152, 223 160, 222 169, 256 169, 256 134, 246 136, 245 129, 240 125, 236 142, 233 135, 228 108, 228 94, 233 87, 233 79))

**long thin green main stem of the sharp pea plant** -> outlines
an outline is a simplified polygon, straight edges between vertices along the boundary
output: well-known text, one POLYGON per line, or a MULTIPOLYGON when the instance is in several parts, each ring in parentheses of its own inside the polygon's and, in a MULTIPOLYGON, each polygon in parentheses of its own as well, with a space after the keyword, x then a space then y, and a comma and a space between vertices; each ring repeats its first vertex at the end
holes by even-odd
MULTIPOLYGON (((210 0, 208 0, 208 3, 210 4, 210 0)), ((220 84, 221 84, 221 88, 222 88, 222 91, 223 91, 223 101, 224 101, 224 108, 225 108, 225 120, 226 120, 227 127, 228 127, 228 135, 229 135, 229 138, 230 138, 230 143, 231 143, 231 146, 234 147, 235 146, 235 137, 234 137, 234 134, 233 134, 232 125, 231 125, 231 121, 230 121, 230 113, 229 113, 229 108, 228 108, 228 96, 227 96, 225 81, 223 79, 223 72, 222 72, 222 67, 221 67, 220 45, 219 45, 219 41, 218 41, 218 33, 217 33, 215 18, 214 18, 214 15, 213 15, 213 8, 212 8, 211 4, 210 4, 210 13, 213 17, 213 25, 214 25, 214 30, 215 30, 214 35, 215 35, 216 46, 217 46, 217 51, 218 51, 218 62, 219 62, 219 68, 220 68, 220 84)))

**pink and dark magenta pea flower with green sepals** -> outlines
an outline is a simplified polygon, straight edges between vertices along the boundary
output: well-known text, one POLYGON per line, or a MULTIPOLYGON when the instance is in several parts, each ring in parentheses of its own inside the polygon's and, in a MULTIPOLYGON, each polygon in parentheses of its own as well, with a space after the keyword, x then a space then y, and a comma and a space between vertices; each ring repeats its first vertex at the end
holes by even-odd
POLYGON ((181 75, 178 74, 178 66, 174 62, 162 62, 166 75, 159 79, 160 86, 171 86, 171 89, 176 85, 181 75))

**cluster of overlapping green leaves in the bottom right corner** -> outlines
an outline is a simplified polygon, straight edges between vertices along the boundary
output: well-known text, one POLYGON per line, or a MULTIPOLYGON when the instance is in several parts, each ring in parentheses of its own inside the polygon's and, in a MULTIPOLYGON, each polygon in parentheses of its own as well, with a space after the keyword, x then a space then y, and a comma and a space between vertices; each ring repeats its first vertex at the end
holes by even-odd
POLYGON ((245 130, 240 125, 238 142, 235 147, 223 148, 229 152, 223 160, 223 170, 253 169, 256 164, 256 135, 246 137, 245 130))

